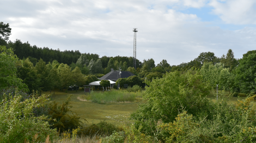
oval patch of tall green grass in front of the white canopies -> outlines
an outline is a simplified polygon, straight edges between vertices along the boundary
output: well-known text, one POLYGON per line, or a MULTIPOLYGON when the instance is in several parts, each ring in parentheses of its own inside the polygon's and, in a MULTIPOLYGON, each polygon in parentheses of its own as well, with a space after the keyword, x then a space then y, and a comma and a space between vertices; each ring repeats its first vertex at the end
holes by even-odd
POLYGON ((141 92, 128 92, 126 90, 111 90, 107 92, 91 92, 88 96, 81 96, 81 100, 92 101, 94 103, 112 102, 133 102, 141 92))

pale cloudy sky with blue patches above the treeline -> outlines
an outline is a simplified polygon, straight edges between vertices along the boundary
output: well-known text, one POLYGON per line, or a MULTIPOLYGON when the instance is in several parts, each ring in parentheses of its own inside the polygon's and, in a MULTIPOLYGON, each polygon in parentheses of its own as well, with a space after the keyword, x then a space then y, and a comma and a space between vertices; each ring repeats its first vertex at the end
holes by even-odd
POLYGON ((202 52, 235 58, 256 47, 255 0, 1 0, 0 21, 32 46, 102 56, 190 62, 202 52))

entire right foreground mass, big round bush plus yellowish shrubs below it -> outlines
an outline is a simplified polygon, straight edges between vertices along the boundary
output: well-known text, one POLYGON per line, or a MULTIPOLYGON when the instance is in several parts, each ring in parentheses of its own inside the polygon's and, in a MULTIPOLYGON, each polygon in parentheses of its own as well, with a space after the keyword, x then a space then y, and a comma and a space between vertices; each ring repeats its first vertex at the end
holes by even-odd
POLYGON ((255 142, 254 96, 236 104, 205 97, 208 85, 196 71, 167 73, 146 90, 147 103, 132 114, 135 127, 161 142, 255 142))

